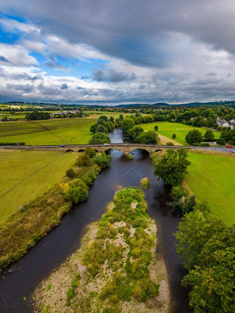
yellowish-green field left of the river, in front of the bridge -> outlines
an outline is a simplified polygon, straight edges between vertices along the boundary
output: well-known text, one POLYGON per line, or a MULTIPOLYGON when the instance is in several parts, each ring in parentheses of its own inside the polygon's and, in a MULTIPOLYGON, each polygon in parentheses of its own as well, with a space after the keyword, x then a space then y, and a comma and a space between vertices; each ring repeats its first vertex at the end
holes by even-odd
POLYGON ((0 149, 0 222, 59 182, 76 158, 59 151, 0 149))

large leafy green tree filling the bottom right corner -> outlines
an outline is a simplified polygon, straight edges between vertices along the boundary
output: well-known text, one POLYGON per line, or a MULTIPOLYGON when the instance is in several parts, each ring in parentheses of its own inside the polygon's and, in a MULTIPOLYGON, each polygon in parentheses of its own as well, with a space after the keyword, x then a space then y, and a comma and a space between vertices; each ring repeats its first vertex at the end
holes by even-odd
POLYGON ((189 303, 195 313, 235 312, 234 302, 235 227, 228 227, 205 243, 198 265, 182 284, 191 287, 189 303))

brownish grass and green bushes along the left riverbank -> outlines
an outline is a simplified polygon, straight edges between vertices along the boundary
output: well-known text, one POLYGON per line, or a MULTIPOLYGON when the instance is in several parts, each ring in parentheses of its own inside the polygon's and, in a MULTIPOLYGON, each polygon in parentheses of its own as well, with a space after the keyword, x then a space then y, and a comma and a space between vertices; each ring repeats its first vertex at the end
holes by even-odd
POLYGON ((30 247, 59 225, 72 205, 88 197, 88 189, 101 169, 109 167, 111 156, 86 149, 66 178, 12 213, 0 226, 0 270, 23 256, 30 247))

